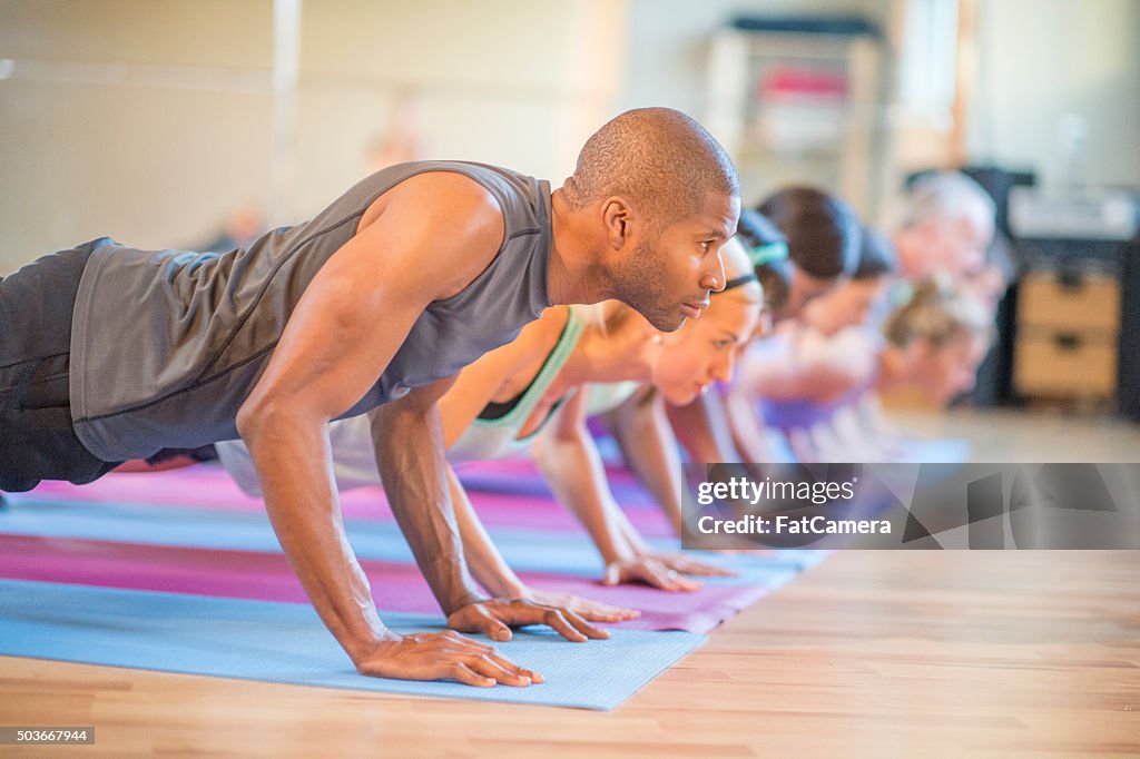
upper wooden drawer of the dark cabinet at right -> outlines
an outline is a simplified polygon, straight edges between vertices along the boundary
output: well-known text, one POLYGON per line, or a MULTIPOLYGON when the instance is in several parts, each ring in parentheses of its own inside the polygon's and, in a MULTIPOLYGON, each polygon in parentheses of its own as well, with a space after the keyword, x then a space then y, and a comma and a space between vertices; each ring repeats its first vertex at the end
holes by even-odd
POLYGON ((1029 274, 1017 297, 1018 324, 1065 330, 1116 332, 1121 323, 1121 286, 1106 275, 1086 274, 1072 286, 1056 275, 1029 274))

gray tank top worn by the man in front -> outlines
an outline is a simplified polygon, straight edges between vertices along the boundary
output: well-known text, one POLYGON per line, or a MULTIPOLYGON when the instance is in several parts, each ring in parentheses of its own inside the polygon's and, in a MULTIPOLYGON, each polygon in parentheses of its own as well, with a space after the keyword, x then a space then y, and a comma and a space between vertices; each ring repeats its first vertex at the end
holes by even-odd
POLYGON ((99 246, 72 318, 75 433, 119 462, 161 448, 237 438, 237 410, 264 370, 285 323, 320 267, 385 190, 427 171, 461 173, 498 199, 503 246, 456 295, 431 303, 376 383, 343 416, 449 377, 511 342, 549 303, 551 189, 505 169, 417 162, 384 169, 317 217, 228 253, 99 246))

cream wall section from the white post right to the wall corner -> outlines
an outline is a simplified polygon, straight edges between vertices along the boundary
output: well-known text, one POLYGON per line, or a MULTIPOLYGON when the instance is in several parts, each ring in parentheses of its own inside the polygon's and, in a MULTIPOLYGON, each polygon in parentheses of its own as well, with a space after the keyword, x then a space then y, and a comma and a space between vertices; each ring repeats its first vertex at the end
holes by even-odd
POLYGON ((416 104, 423 157, 561 182, 613 109, 622 13, 610 0, 308 2, 298 203, 316 207, 359 177, 399 90, 416 104))

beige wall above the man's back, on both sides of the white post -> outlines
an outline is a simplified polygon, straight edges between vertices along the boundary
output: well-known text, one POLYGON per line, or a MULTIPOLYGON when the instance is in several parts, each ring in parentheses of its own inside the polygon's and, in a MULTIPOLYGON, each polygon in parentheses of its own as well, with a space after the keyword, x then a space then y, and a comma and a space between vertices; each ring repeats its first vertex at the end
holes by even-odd
MULTIPOLYGON (((285 218, 367 171, 400 91, 422 157, 559 182, 613 113, 625 36, 624 0, 304 2, 285 218)), ((271 0, 0 0, 0 275, 98 235, 190 245, 268 202, 271 0)))

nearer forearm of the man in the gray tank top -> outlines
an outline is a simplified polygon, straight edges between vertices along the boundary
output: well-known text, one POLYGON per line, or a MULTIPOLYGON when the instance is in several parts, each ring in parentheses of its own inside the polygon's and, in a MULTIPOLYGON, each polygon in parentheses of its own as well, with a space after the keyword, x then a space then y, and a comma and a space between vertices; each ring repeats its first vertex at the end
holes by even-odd
POLYGON ((324 425, 267 417, 243 436, 285 556, 325 626, 359 661, 390 634, 344 534, 324 425))

